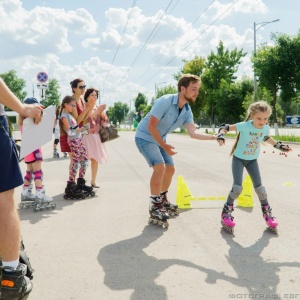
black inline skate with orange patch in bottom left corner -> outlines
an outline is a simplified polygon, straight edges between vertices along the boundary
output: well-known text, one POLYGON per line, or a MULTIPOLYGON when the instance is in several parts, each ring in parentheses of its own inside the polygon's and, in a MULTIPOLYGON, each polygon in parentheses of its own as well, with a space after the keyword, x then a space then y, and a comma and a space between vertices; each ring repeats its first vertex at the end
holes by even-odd
POLYGON ((26 276, 27 266, 19 263, 14 270, 10 267, 1 267, 1 299, 27 299, 32 291, 32 281, 26 276))

